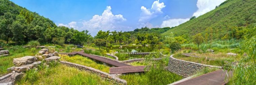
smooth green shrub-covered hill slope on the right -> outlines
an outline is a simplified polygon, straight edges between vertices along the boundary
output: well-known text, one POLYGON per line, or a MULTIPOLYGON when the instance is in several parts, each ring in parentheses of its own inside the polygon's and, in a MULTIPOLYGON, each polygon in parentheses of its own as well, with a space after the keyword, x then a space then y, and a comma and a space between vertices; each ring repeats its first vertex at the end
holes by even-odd
POLYGON ((232 30, 237 31, 239 27, 253 23, 256 23, 256 0, 227 0, 214 10, 168 30, 162 36, 171 32, 177 36, 193 36, 197 33, 205 35, 209 32, 206 29, 212 29, 213 38, 221 39, 225 35, 232 36, 232 30))

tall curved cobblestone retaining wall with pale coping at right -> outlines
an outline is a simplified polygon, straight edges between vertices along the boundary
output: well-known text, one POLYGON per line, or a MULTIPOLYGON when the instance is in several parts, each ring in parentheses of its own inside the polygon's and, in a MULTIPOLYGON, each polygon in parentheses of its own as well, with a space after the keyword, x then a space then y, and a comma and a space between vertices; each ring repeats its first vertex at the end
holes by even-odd
POLYGON ((219 68, 222 69, 222 67, 218 66, 211 66, 211 65, 204 65, 200 63, 180 60, 170 56, 169 63, 168 63, 168 70, 170 72, 176 73, 178 75, 189 77, 192 75, 195 75, 198 71, 203 70, 205 67, 210 68, 219 68))

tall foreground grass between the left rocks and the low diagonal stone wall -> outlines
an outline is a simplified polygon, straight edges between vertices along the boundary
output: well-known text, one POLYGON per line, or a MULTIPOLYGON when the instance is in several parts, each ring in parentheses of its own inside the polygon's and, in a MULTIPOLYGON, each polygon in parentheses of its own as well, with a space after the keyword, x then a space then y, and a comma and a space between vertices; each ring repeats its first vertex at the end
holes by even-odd
POLYGON ((65 65, 57 65, 48 68, 47 74, 42 70, 27 71, 18 85, 111 85, 109 81, 102 79, 97 74, 80 71, 65 65))

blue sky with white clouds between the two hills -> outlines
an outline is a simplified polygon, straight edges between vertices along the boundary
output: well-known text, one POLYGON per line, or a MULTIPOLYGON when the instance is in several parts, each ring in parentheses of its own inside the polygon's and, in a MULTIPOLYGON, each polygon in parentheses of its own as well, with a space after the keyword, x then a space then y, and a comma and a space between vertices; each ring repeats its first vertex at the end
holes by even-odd
POLYGON ((213 10, 225 0, 11 0, 57 26, 103 31, 175 27, 213 10))

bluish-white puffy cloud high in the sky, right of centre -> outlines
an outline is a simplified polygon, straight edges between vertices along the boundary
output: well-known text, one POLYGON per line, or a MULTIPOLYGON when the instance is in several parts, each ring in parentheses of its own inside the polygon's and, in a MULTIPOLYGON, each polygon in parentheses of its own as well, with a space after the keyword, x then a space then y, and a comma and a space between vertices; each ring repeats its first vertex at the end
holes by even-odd
POLYGON ((153 2, 151 9, 147 9, 144 6, 141 6, 139 22, 148 22, 150 19, 158 16, 158 14, 163 13, 162 8, 164 7, 165 7, 164 3, 163 2, 159 3, 159 0, 153 2))

